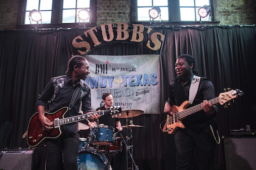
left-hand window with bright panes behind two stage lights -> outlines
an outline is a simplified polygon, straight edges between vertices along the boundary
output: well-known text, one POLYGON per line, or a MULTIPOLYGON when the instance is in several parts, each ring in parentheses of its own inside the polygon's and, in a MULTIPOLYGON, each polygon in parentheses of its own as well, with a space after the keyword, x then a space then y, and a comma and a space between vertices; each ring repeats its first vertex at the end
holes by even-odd
POLYGON ((67 24, 67 23, 96 23, 96 1, 95 0, 23 0, 20 7, 20 24, 36 24, 30 20, 29 13, 36 9, 42 15, 42 24, 67 24), (86 21, 79 21, 77 16, 79 10, 87 9, 94 11, 86 21))

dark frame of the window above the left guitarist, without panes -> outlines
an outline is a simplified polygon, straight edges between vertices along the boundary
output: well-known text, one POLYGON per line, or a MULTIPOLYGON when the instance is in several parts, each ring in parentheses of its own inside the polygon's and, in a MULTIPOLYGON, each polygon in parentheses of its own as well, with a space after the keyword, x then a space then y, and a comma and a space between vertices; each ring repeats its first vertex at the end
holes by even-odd
MULTIPOLYGON (((84 25, 79 23, 62 23, 62 6, 63 0, 53 0, 52 4, 52 17, 50 24, 40 24, 38 28, 70 28, 70 27, 94 27, 96 26, 96 0, 90 0, 90 22, 86 22, 84 25)), ((26 14, 26 0, 20 0, 18 15, 18 29, 32 29, 33 27, 23 24, 25 22, 26 14)), ((35 24, 33 24, 35 25, 35 24)))

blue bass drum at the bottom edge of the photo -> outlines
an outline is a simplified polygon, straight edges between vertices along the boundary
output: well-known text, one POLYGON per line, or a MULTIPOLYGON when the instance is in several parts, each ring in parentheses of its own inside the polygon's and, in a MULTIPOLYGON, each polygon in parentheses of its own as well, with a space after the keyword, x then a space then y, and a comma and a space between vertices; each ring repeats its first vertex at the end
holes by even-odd
POLYGON ((78 153, 78 170, 110 170, 111 167, 104 154, 96 149, 86 149, 78 153))

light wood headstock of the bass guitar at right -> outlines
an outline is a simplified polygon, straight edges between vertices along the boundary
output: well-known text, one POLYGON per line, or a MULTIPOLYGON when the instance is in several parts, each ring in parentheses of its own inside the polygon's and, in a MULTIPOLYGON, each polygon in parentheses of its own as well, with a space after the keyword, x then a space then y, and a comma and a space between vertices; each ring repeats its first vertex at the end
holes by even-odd
POLYGON ((221 105, 225 105, 225 107, 227 107, 227 105, 230 105, 230 100, 233 100, 234 102, 234 98, 237 98, 238 96, 243 96, 243 91, 239 90, 239 89, 224 89, 225 92, 224 93, 220 93, 219 95, 219 103, 221 105))

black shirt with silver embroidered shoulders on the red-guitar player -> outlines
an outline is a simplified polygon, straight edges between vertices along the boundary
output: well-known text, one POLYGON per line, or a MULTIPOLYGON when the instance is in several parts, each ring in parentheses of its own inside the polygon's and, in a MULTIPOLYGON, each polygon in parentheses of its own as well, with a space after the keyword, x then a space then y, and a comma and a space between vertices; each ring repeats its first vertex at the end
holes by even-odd
MULTIPOLYGON (((80 97, 77 99, 71 110, 68 110, 65 117, 79 115, 78 112, 80 102, 83 103, 82 110, 84 113, 92 111, 90 87, 82 80, 77 82, 77 84, 73 87, 72 79, 66 75, 53 77, 49 81, 43 93, 38 98, 37 106, 45 106, 47 108, 47 104, 50 102, 49 109, 47 110, 47 112, 50 113, 53 113, 64 106, 68 107, 75 89, 80 85, 82 86, 80 97)), ((76 133, 79 131, 78 122, 64 124, 61 126, 61 128, 62 132, 67 136, 71 133, 76 133)))

